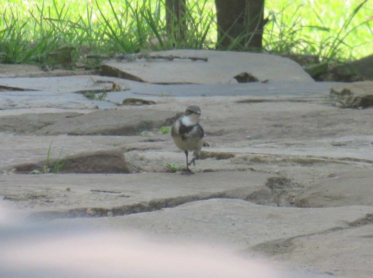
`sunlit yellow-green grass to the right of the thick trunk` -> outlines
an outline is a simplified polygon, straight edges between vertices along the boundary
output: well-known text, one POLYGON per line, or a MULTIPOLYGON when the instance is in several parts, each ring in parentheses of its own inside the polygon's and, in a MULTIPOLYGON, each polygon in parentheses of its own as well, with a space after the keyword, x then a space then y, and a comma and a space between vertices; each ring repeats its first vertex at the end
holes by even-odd
POLYGON ((372 0, 266 0, 266 7, 266 16, 275 18, 264 34, 268 50, 329 59, 358 59, 373 53, 372 0))

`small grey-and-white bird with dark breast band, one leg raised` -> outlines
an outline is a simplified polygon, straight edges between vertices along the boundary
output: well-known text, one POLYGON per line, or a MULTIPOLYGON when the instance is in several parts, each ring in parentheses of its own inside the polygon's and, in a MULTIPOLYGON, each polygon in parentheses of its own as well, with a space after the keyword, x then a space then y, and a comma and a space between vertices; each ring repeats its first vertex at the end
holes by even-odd
POLYGON ((186 173, 191 174, 189 165, 199 158, 203 146, 204 131, 198 120, 201 116, 201 109, 196 105, 186 107, 184 114, 172 124, 171 137, 175 145, 184 151, 186 155, 186 173), (188 162, 188 151, 193 151, 194 158, 188 162))

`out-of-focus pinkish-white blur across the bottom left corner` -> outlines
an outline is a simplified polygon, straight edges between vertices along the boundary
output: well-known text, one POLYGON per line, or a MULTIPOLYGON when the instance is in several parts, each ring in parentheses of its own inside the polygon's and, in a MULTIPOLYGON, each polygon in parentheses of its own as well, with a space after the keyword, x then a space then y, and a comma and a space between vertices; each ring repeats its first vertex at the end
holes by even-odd
POLYGON ((326 277, 278 271, 219 247, 159 242, 157 238, 119 230, 62 227, 47 219, 20 215, 0 202, 3 278, 326 277))

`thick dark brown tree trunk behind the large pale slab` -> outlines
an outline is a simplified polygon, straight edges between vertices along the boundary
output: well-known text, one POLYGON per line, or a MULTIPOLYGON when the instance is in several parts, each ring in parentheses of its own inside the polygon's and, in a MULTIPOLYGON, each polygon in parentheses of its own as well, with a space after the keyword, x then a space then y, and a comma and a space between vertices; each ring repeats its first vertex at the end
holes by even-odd
POLYGON ((261 50, 264 0, 215 0, 218 48, 261 50))

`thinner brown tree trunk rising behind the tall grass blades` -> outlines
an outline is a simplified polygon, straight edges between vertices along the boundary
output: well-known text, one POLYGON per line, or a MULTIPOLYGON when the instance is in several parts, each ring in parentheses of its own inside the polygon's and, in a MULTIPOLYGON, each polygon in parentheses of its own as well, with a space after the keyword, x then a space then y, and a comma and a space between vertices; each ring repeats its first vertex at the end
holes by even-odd
POLYGON ((166 0, 167 35, 175 40, 185 39, 185 5, 186 0, 166 0))

